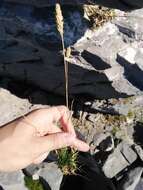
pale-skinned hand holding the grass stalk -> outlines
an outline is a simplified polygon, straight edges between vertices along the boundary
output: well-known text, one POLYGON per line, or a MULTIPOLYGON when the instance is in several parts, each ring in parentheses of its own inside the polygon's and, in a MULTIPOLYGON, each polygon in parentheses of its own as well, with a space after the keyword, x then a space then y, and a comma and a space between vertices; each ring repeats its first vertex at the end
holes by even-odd
POLYGON ((69 110, 57 106, 33 111, 0 128, 0 171, 12 172, 41 163, 50 151, 64 147, 89 150, 77 139, 69 110))

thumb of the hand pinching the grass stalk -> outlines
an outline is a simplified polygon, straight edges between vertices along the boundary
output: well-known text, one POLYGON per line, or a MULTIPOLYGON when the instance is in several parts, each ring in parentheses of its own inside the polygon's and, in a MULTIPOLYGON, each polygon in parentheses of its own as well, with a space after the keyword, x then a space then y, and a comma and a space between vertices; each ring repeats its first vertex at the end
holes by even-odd
POLYGON ((75 147, 76 149, 84 152, 89 150, 89 146, 86 143, 78 140, 71 133, 61 132, 42 137, 42 142, 41 142, 42 152, 61 149, 68 146, 75 147))

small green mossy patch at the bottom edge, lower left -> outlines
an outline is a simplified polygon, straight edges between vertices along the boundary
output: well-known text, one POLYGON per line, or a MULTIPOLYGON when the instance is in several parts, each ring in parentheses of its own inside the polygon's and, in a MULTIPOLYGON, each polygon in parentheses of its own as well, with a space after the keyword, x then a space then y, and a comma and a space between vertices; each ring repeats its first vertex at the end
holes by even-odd
POLYGON ((44 190, 44 187, 40 180, 33 180, 32 177, 25 176, 24 181, 25 186, 29 190, 44 190))

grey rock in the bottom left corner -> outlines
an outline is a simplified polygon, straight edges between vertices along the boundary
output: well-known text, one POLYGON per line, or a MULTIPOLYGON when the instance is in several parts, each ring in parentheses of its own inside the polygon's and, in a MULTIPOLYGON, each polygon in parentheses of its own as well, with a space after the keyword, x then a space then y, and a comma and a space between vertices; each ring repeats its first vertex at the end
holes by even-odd
POLYGON ((4 190, 28 190, 24 185, 22 171, 0 173, 0 185, 4 190))

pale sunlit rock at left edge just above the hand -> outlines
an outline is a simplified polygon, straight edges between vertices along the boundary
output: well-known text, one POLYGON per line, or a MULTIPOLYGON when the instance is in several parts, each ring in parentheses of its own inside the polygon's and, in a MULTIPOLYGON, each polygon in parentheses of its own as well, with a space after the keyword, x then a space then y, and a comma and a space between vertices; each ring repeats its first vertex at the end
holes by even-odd
MULTIPOLYGON (((6 81, 4 80, 4 82, 6 81)), ((22 117, 32 110, 50 107, 46 105, 44 97, 42 99, 43 105, 42 101, 41 104, 38 104, 38 101, 40 101, 41 98, 41 94, 42 92, 40 93, 39 90, 37 90, 37 93, 35 92, 35 99, 37 99, 37 103, 35 102, 35 104, 32 104, 29 102, 28 98, 19 98, 18 96, 12 94, 10 91, 4 88, 0 88, 0 115, 2 115, 2 117, 0 117, 0 126, 3 126, 19 117, 22 117)), ((33 93, 31 93, 31 95, 33 95, 33 93)))

